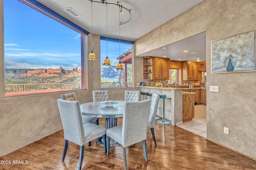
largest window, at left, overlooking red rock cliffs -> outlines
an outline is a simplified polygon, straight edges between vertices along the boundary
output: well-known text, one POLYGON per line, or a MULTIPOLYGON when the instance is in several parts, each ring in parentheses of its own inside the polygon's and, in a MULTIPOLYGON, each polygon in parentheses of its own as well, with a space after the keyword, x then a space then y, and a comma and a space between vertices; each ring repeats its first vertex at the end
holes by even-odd
POLYGON ((85 88, 86 31, 37 4, 4 0, 5 97, 85 88))

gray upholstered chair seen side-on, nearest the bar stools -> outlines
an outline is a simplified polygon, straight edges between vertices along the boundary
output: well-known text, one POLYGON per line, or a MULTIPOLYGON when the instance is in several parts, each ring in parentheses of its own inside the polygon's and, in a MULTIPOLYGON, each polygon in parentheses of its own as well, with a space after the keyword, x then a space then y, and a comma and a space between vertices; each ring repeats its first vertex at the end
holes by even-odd
POLYGON ((154 143, 156 145, 156 138, 155 138, 155 120, 156 120, 156 111, 158 106, 160 96, 156 93, 152 94, 151 98, 151 105, 150 105, 150 111, 149 111, 149 117, 148 117, 148 128, 150 128, 154 143))

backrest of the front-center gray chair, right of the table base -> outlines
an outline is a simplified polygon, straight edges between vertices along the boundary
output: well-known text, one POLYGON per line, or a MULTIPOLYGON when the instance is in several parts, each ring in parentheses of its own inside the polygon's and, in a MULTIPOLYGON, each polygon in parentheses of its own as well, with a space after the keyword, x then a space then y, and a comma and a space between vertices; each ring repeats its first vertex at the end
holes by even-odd
POLYGON ((151 99, 124 102, 122 145, 130 146, 146 140, 151 99))

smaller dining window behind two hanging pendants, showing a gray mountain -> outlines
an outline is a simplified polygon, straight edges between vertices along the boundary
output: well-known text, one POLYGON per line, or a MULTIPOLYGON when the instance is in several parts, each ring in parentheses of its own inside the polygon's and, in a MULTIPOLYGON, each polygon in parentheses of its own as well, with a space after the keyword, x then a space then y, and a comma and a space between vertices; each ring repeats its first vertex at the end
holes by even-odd
POLYGON ((132 87, 132 47, 134 42, 120 41, 113 38, 100 38, 100 66, 101 66, 101 88, 132 87), (108 44, 108 47, 107 47, 108 44), (120 46, 120 49, 119 49, 120 46), (108 51, 110 66, 103 65, 108 51), (117 69, 119 61, 123 69, 117 69))

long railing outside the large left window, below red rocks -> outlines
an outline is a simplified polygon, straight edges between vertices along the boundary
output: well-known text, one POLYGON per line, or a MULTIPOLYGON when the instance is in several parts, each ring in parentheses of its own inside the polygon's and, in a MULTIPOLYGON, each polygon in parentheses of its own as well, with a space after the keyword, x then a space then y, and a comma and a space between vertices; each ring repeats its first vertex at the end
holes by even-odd
POLYGON ((18 93, 28 91, 44 91, 58 89, 80 89, 81 83, 38 83, 38 84, 5 84, 5 93, 18 93))

